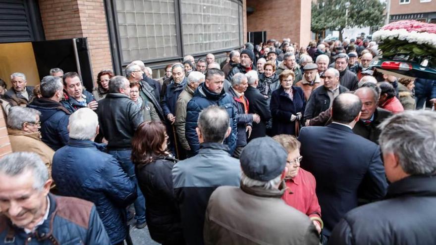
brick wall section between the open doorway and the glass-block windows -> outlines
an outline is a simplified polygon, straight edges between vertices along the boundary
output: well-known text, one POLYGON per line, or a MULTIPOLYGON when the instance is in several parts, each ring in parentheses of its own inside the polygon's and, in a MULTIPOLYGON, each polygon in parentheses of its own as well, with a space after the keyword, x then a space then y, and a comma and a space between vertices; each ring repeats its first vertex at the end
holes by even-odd
POLYGON ((94 82, 103 69, 112 69, 103 0, 39 0, 47 40, 88 38, 94 82))

